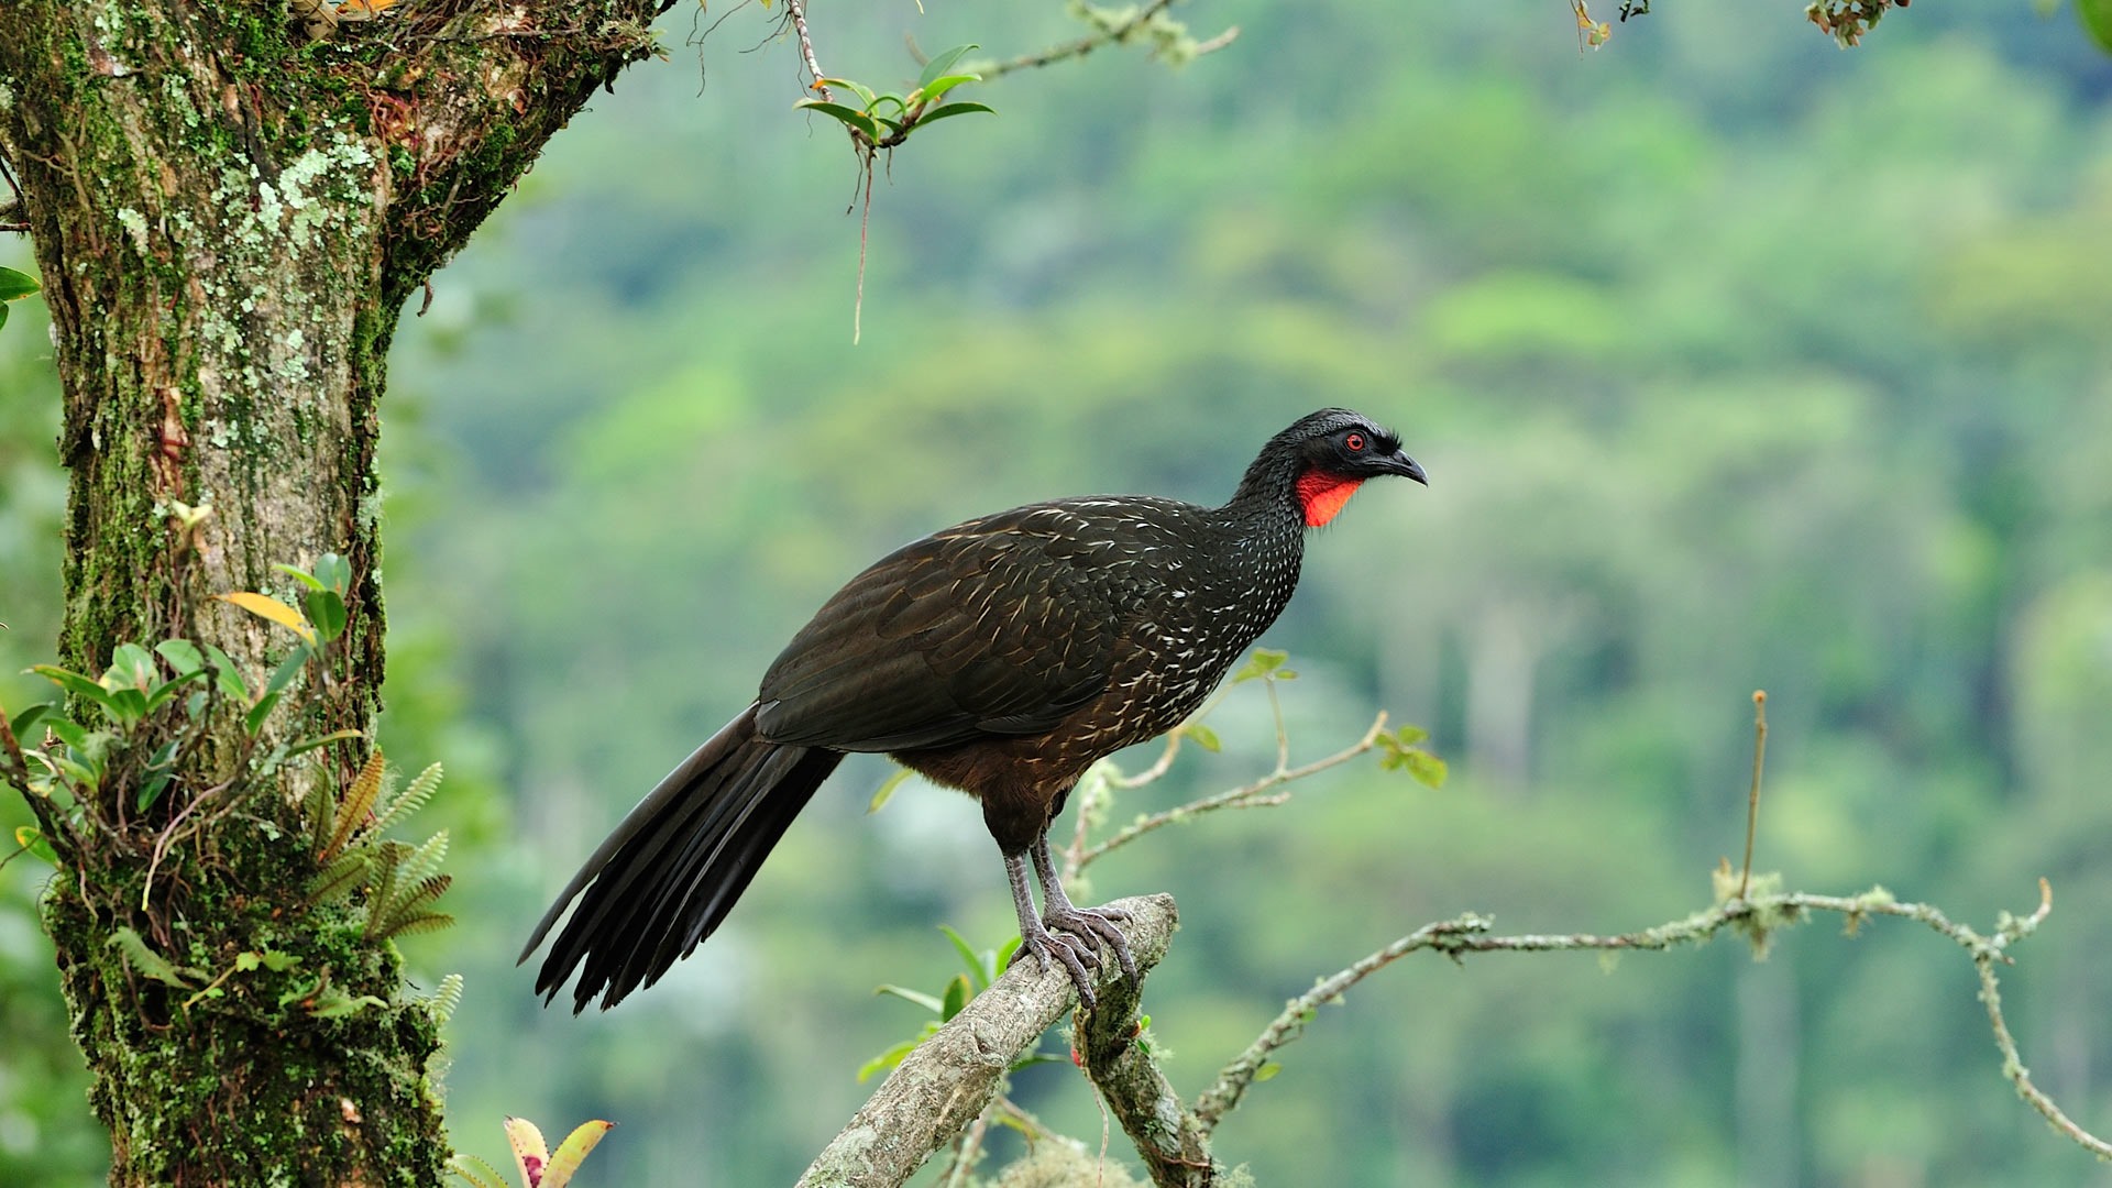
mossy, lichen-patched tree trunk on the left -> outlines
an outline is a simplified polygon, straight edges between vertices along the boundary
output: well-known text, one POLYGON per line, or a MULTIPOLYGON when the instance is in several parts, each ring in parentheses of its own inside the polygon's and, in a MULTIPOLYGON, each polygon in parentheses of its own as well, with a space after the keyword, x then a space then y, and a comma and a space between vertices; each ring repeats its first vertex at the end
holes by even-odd
MULTIPOLYGON (((593 89, 653 51, 661 8, 403 0, 336 23, 285 0, 0 4, 0 152, 65 391, 65 666, 188 636, 268 670, 287 636, 211 594, 296 600, 272 562, 336 552, 348 628, 302 721, 277 729, 370 727, 376 408, 397 315, 593 89)), ((184 769, 239 748, 241 725, 215 721, 184 769)), ((300 778, 346 780, 363 744, 323 755, 300 778)), ((386 941, 304 903, 302 788, 201 814, 211 827, 177 833, 150 877, 169 818, 211 795, 175 788, 133 818, 133 791, 106 788, 93 846, 61 852, 46 901, 112 1184, 441 1182, 435 1023, 386 941), (127 928, 205 974, 239 953, 298 964, 201 1000, 127 962, 112 947, 127 928), (317 979, 380 1006, 304 1010, 287 987, 317 979)))

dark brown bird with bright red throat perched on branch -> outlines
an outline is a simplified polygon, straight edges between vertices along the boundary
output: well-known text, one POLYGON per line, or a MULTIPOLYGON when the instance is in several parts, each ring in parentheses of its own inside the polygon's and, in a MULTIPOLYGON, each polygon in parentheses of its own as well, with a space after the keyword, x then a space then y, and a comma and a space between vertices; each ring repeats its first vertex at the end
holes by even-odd
POLYGON ((883 556, 587 856, 522 949, 528 962, 570 907, 536 994, 549 1004, 577 974, 577 1015, 659 981, 724 922, 843 757, 885 753, 982 803, 1018 951, 1062 966, 1090 1008, 1102 945, 1136 979, 1128 915, 1071 903, 1050 822, 1092 763, 1204 704, 1290 602, 1305 533, 1381 476, 1430 482, 1398 435, 1322 408, 1269 438, 1221 507, 1029 503, 883 556))

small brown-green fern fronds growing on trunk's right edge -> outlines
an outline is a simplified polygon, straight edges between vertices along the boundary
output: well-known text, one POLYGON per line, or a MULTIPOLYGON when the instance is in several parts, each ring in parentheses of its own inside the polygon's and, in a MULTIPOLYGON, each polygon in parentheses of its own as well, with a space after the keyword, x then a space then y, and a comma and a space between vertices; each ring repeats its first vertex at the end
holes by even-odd
POLYGON ((310 903, 365 892, 367 941, 437 932, 454 924, 452 915, 433 909, 454 886, 454 875, 439 871, 448 858, 448 831, 441 829, 418 846, 384 837, 433 799, 439 780, 441 767, 433 763, 399 793, 380 750, 367 757, 342 793, 319 780, 304 805, 317 865, 315 879, 308 881, 310 903))

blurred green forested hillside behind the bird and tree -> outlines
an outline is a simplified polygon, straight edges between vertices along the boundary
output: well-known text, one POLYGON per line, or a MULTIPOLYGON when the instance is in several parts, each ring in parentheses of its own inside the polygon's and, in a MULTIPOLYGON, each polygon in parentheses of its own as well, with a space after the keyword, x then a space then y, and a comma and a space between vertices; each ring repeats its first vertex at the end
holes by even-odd
MULTIPOLYGON (((716 6, 714 6, 716 8, 716 6)), ((1075 36, 1058 4, 817 6, 824 66, 1075 36)), ((718 13, 714 11, 712 17, 718 13)), ((384 744, 450 780, 456 1141, 615 1131, 583 1184, 790 1182, 917 1029, 950 922, 1010 932, 955 793, 849 763, 731 924, 610 1015, 511 958, 621 812, 746 704, 836 583, 1031 499, 1217 501, 1345 404, 1428 490, 1364 493, 1265 643, 1293 757, 1377 708, 1440 793, 1358 763, 1168 831, 1094 896, 1170 890, 1147 1010, 1202 1089, 1314 977, 1413 926, 1624 930, 1736 856, 1987 926, 2057 911, 2004 983, 2032 1072, 2112 1129, 2112 61, 2021 0, 1916 6, 1854 53, 1797 4, 1664 4, 1580 55, 1561 4, 1206 0, 1240 40, 974 95, 872 205, 864 345, 843 137, 790 110, 773 13, 629 72, 406 317, 384 408, 384 744)), ((0 262, 21 264, 21 243, 0 262)), ((0 334, 0 695, 57 630, 42 311, 0 334)), ((1223 757, 1117 820, 1267 769, 1223 757)), ((1134 765, 1134 757, 1132 757, 1134 765)), ((8 831, 25 820, 0 805, 8 831)), ((0 871, 0 1182, 99 1180, 32 901, 0 871)), ((1970 966, 1916 926, 1704 951, 1413 960, 1328 1008, 1221 1129, 1261 1184, 2101 1184, 2000 1078, 1970 966)), ((1016 1095, 1069 1133, 1079 1074, 1016 1095)), ((1119 1135, 1113 1150, 1126 1150, 1119 1135)), ((925 1175, 929 1180, 929 1173, 925 1175)))

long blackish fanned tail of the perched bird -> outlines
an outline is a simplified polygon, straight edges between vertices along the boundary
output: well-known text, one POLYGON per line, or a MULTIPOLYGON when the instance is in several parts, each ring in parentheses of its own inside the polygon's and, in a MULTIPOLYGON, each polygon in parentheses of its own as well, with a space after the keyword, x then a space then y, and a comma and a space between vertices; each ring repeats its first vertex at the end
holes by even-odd
POLYGON ((579 898, 536 994, 558 998, 579 970, 572 1013, 596 994, 606 1010, 659 981, 718 928, 838 761, 841 750, 762 742, 754 706, 727 723, 638 801, 536 924, 522 962, 579 898))

